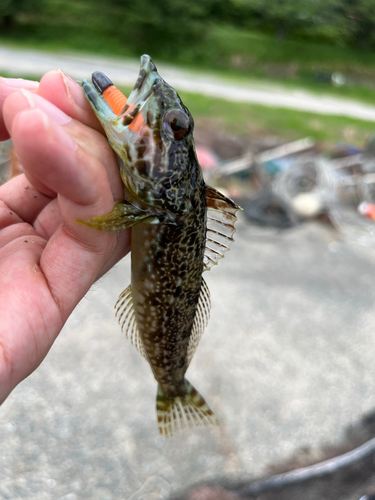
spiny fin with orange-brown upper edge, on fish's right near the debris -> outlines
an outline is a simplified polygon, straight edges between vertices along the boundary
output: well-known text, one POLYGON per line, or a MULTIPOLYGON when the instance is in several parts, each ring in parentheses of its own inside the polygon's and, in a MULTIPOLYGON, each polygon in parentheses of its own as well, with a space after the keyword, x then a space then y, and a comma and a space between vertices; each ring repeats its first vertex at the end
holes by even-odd
POLYGON ((206 186, 207 232, 204 271, 209 271, 229 250, 236 232, 236 212, 241 210, 232 200, 216 189, 206 186))

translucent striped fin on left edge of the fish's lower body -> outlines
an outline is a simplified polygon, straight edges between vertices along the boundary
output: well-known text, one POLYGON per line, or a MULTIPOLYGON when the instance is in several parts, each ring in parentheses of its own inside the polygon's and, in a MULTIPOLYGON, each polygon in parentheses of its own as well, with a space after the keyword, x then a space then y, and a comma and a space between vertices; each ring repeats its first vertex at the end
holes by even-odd
POLYGON ((115 309, 121 331, 126 333, 126 338, 130 338, 131 343, 147 359, 135 317, 131 285, 121 293, 115 304, 115 309))

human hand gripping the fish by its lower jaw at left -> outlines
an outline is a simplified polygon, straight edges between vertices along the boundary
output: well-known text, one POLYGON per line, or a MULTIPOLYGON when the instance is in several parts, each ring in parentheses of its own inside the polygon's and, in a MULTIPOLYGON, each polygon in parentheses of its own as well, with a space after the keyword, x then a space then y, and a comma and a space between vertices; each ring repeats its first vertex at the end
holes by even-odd
POLYGON ((0 186, 0 404, 130 250, 129 231, 75 222, 123 197, 115 155, 76 82, 61 71, 40 85, 0 78, 0 140, 9 137, 25 174, 0 186))

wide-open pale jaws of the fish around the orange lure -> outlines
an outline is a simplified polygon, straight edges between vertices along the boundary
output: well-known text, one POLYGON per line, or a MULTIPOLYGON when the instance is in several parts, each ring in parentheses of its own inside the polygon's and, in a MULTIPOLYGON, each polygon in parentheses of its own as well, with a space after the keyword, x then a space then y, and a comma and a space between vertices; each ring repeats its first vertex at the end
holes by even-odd
MULTIPOLYGON (((124 106, 120 110, 113 109, 105 97, 105 91, 113 86, 113 83, 104 73, 100 71, 94 72, 92 74, 92 83, 85 79, 82 82, 82 87, 97 118, 107 132, 106 125, 109 122, 116 129, 119 128, 118 125, 120 124, 128 126, 132 122, 152 95, 153 86, 158 79, 161 79, 161 77, 155 64, 149 55, 144 54, 141 56, 141 66, 134 88, 127 99, 123 96, 124 106), (121 120, 119 120, 120 118, 121 120)), ((120 93, 120 91, 118 92, 120 93)))

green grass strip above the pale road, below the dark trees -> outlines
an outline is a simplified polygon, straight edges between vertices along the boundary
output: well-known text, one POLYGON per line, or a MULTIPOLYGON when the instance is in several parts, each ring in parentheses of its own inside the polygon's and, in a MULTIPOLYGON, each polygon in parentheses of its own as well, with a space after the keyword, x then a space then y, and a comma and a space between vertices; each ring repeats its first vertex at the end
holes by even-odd
MULTIPOLYGON (((56 8, 59 5, 56 2, 56 8)), ((92 13, 86 12, 84 2, 76 8, 74 21, 70 18, 60 21, 59 16, 54 16, 53 24, 50 18, 38 25, 25 24, 7 35, 0 33, 0 43, 47 51, 79 50, 134 58, 144 52, 142 46, 136 50, 115 33, 104 32, 100 24, 95 24, 92 13), (76 19, 80 19, 79 27, 76 19)), ((186 44, 173 61, 158 53, 151 53, 151 56, 157 62, 204 70, 238 83, 246 84, 251 80, 260 85, 300 88, 315 94, 328 93, 375 104, 375 53, 370 51, 311 42, 276 41, 268 35, 216 26, 208 29, 204 46, 186 44), (333 71, 345 74, 347 84, 334 87, 329 81, 318 81, 318 78, 328 79, 333 71)))

